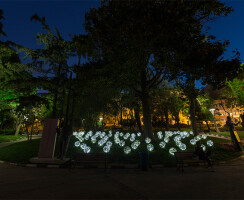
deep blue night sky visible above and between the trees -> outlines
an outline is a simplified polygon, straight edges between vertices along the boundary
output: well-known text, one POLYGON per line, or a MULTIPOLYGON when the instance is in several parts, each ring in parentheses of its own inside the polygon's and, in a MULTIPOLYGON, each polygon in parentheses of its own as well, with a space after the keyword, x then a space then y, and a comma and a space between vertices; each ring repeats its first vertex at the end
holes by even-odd
MULTIPOLYGON (((236 48, 241 52, 244 62, 244 0, 226 1, 227 5, 234 8, 234 12, 227 17, 218 18, 210 24, 209 32, 218 39, 228 39, 231 45, 226 56, 236 48)), ((51 28, 57 27, 65 39, 69 39, 69 33, 84 32, 84 15, 91 7, 98 7, 100 0, 77 1, 3 1, 0 0, 0 9, 4 11, 4 31, 7 39, 20 45, 37 48, 36 34, 41 31, 38 22, 30 22, 30 17, 37 13, 45 16, 47 24, 51 28)))

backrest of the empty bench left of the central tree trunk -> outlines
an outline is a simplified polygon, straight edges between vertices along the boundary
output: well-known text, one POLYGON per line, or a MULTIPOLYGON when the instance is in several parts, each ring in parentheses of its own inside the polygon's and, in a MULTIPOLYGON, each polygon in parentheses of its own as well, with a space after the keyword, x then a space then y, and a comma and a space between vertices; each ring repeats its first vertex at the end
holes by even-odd
POLYGON ((74 159, 76 161, 105 161, 107 154, 105 153, 76 153, 74 159))

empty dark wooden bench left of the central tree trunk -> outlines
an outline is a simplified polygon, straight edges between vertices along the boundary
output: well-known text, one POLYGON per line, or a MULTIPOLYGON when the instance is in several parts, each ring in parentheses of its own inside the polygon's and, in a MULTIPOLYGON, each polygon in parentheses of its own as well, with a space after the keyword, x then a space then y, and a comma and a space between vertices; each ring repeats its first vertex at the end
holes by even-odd
POLYGON ((108 156, 106 153, 76 153, 73 164, 104 164, 108 168, 108 156))

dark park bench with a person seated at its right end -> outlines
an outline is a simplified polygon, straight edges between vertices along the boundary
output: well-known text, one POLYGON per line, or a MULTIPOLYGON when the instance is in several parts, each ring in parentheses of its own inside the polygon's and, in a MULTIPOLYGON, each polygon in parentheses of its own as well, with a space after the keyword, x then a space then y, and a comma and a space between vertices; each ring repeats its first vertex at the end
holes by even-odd
POLYGON ((176 167, 181 172, 184 171, 184 164, 205 163, 203 160, 199 160, 194 152, 175 152, 176 167))

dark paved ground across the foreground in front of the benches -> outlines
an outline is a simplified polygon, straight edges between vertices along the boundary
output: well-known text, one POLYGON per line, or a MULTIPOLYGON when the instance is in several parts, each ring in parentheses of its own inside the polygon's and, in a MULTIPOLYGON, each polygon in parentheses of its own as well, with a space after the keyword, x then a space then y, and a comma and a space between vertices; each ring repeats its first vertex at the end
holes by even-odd
POLYGON ((52 169, 0 164, 0 199, 244 199, 244 160, 153 169, 52 169))

